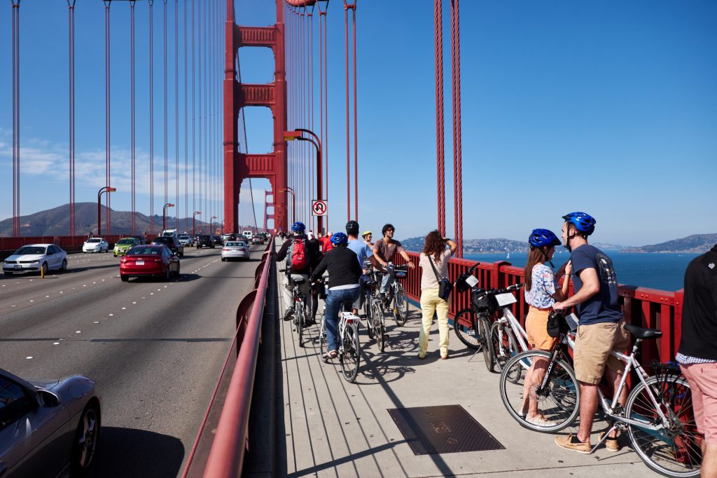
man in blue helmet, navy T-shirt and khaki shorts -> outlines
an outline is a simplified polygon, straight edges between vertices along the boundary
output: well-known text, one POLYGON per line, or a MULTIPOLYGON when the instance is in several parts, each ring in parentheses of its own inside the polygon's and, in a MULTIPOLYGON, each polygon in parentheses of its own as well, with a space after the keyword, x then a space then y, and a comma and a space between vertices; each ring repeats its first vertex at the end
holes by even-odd
MULTIPOLYGON (((558 436, 555 444, 564 449, 590 453, 590 432, 597 411, 597 385, 607 375, 613 390, 619 386, 625 363, 610 355, 611 350, 626 351, 630 337, 617 304, 617 277, 612 261, 602 250, 589 245, 587 238, 595 230, 596 221, 585 212, 563 216, 564 246, 571 251, 574 296, 556 301, 556 310, 576 306, 579 322, 575 338, 575 376, 580 386, 580 426, 576 436, 558 436)), ((627 387, 619 396, 625 405, 627 387)), ((617 431, 605 441, 609 451, 619 451, 617 431)))

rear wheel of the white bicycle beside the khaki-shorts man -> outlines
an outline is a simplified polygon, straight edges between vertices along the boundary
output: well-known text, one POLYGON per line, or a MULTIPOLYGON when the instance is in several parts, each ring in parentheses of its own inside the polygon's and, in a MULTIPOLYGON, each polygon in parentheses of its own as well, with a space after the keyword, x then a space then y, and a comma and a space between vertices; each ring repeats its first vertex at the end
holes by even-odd
POLYGON ((692 408, 690 385, 683 377, 647 379, 652 395, 667 420, 663 423, 645 384, 640 382, 627 397, 625 416, 660 427, 649 430, 628 425, 632 448, 652 471, 666 477, 695 477, 702 461, 701 436, 692 408))

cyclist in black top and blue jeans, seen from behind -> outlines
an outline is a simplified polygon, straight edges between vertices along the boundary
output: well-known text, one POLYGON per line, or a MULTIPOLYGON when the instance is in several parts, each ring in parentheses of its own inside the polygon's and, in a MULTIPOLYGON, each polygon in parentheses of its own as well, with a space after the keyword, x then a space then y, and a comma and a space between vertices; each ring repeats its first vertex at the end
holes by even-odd
POLYGON ((356 261, 356 254, 349 249, 348 236, 336 233, 331 236, 333 250, 323 256, 321 262, 311 274, 311 282, 319 281, 324 271, 328 269, 328 296, 326 297, 326 342, 328 352, 323 358, 336 358, 338 333, 338 312, 343 301, 356 301, 359 298, 359 279, 361 266, 356 261))

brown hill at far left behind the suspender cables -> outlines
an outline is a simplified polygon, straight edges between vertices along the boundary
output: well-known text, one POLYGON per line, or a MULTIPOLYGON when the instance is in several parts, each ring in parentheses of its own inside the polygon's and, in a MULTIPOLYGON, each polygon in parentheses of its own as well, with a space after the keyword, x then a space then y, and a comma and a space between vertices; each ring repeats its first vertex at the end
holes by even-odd
MULTIPOLYGON (((130 211, 111 211, 111 221, 113 234, 129 234, 132 225, 132 213, 130 211)), ((105 208, 103 206, 103 229, 105 221, 105 208)), ((189 219, 180 219, 180 228, 184 228, 184 224, 191 228, 191 217, 189 219), (185 222, 186 221, 186 222, 185 222)), ((174 226, 174 217, 167 217, 168 227, 174 226)), ((206 226, 206 222, 199 219, 196 220, 196 226, 206 226)), ((241 227, 241 226, 240 226, 241 227)), ((154 228, 161 230, 162 216, 154 215, 154 228)), ((96 202, 77 202, 75 204, 75 234, 87 235, 92 230, 97 235, 97 203, 96 202)), ((149 230, 149 216, 141 212, 135 214, 135 230, 141 233, 149 230)), ((27 216, 20 216, 20 235, 37 236, 37 235, 68 235, 70 233, 70 205, 66 204, 60 207, 54 207, 27 216)), ((12 218, 0 221, 0 236, 9 237, 12 235, 12 218)))

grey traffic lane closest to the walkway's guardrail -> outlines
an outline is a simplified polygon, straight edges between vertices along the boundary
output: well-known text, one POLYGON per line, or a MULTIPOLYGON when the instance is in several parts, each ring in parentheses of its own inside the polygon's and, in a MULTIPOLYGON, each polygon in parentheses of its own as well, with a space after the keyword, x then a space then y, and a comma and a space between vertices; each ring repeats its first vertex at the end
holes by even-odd
POLYGON ((222 263, 218 255, 214 261, 194 281, 136 283, 146 297, 143 307, 108 317, 82 339, 45 345, 32 360, 10 361, 11 371, 27 378, 82 372, 97 380, 103 440, 94 476, 175 476, 181 470, 231 343, 237 305, 252 289, 257 266, 222 263), (145 285, 161 290, 150 295, 145 285))

